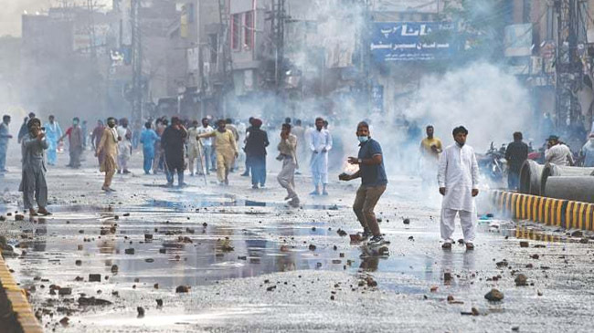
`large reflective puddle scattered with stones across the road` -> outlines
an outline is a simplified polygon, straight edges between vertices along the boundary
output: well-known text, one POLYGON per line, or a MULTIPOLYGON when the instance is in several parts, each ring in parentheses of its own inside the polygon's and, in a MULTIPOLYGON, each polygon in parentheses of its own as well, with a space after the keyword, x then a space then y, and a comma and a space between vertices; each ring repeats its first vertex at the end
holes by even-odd
POLYGON ((165 207, 150 211, 133 208, 126 211, 128 216, 112 208, 80 207, 69 213, 59 213, 62 210, 56 208, 54 216, 38 218, 34 228, 20 235, 19 250, 27 255, 18 259, 16 274, 25 285, 36 276, 68 286, 78 276, 88 281, 90 274, 100 274, 102 284, 159 284, 171 290, 179 285, 208 285, 221 279, 302 269, 372 272, 380 263, 382 272, 427 277, 424 271, 409 268, 425 260, 414 255, 390 260, 360 258, 358 246, 341 255, 334 250, 335 242, 328 239, 345 242, 345 238, 319 223, 259 224, 254 220, 258 216, 251 215, 235 217, 228 223, 210 223, 213 217, 207 214, 180 213, 165 207), (224 248, 225 242, 233 251, 224 248), (308 248, 311 243, 317 245, 315 251, 308 248), (128 253, 131 249, 133 254, 128 253), (113 265, 118 267, 115 274, 111 272, 113 265))

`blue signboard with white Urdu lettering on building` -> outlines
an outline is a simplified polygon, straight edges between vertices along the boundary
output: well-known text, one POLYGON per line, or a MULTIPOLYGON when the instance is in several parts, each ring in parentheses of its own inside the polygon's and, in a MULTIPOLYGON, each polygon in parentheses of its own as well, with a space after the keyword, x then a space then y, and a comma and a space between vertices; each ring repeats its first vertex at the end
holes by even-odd
POLYGON ((454 51, 445 36, 432 42, 424 40, 432 32, 451 30, 450 23, 377 22, 372 29, 370 47, 376 62, 436 60, 451 57, 454 51))

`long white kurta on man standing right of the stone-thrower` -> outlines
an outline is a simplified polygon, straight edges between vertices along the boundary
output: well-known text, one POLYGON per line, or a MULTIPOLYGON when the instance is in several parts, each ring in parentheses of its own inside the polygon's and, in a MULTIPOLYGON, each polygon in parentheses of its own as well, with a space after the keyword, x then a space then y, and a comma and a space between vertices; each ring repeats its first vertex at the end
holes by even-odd
POLYGON ((478 189, 479 165, 471 146, 454 143, 441 153, 438 183, 446 189, 442 208, 474 212, 472 189, 478 189))

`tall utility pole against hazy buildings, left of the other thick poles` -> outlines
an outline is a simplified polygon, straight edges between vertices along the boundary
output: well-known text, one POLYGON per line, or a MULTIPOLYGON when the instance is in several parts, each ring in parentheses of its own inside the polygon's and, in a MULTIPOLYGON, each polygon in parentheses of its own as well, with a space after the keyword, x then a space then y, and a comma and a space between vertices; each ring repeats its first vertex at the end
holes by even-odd
POLYGON ((141 41, 140 4, 132 0, 132 121, 143 119, 143 45, 141 41))

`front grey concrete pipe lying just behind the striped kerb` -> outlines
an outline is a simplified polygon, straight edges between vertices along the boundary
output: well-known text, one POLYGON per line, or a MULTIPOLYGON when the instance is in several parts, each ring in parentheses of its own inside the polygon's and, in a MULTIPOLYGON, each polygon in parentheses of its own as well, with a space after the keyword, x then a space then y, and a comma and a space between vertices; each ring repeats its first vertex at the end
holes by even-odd
POLYGON ((594 177, 548 177, 545 196, 582 203, 594 203, 594 177))

